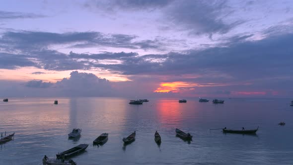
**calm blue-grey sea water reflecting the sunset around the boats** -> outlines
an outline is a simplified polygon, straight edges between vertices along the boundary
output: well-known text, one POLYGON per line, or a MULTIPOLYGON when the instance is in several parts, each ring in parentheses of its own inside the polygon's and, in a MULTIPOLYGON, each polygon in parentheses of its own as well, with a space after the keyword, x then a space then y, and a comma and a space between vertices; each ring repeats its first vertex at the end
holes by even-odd
POLYGON ((225 99, 224 104, 189 99, 150 100, 143 105, 129 99, 81 97, 10 98, 0 102, 0 132, 15 132, 14 140, 0 144, 0 165, 41 165, 44 155, 78 144, 89 144, 72 159, 77 165, 181 164, 293 164, 292 99, 225 99), (278 123, 285 121, 285 126, 278 123), (257 135, 223 134, 210 128, 255 129, 257 135), (68 139, 81 128, 79 139, 68 139), (175 136, 175 128, 191 133, 189 143, 175 136), (154 142, 158 131, 162 143, 154 142), (123 137, 137 132, 124 146, 123 137), (103 146, 93 146, 109 133, 103 146))

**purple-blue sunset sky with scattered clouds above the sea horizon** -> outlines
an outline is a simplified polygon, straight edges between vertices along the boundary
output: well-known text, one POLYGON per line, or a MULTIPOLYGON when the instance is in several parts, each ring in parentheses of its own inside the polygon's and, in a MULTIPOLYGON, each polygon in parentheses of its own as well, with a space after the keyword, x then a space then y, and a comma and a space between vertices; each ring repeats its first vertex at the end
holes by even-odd
POLYGON ((293 97, 292 0, 3 0, 0 96, 293 97))

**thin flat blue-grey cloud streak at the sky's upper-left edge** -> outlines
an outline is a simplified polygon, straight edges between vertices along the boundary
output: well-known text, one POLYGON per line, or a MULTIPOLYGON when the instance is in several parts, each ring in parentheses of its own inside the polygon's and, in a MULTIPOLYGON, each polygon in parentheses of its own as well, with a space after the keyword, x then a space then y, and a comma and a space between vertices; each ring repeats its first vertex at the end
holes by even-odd
POLYGON ((41 14, 34 14, 34 13, 11 12, 11 11, 0 10, 0 20, 1 19, 42 18, 42 17, 46 17, 46 16, 41 14))

